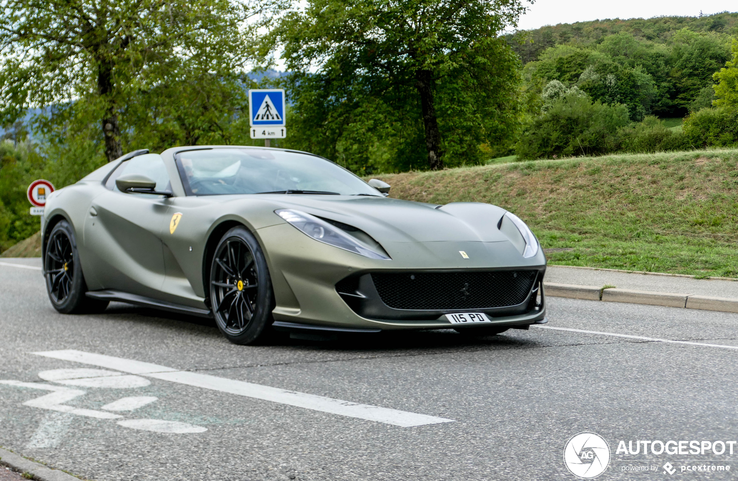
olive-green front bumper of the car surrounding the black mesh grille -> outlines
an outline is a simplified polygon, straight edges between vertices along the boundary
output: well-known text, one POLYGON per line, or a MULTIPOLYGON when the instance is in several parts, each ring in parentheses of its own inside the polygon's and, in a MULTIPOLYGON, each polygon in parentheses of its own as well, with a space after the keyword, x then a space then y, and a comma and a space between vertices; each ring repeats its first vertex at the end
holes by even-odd
MULTIPOLYGON (((453 328, 445 314, 483 312, 494 325, 530 325, 545 318, 542 287, 545 257, 523 259, 509 243, 423 243, 413 246, 384 245, 393 260, 373 260, 316 242, 287 224, 258 229, 265 249, 277 306, 278 322, 326 328, 407 330, 453 328), (446 245, 448 244, 448 245, 446 245), (479 252, 464 260, 458 251, 479 252), (449 252, 449 255, 446 255, 449 252), (439 254, 441 253, 441 254, 439 254), (444 255, 446 257, 444 257, 444 255), (458 257, 458 258, 457 258, 458 257), (523 302, 492 308, 396 309, 379 296, 371 275, 377 272, 537 271, 523 302), (347 278, 359 287, 342 292, 337 284, 347 278)), ((485 324, 489 325, 489 324, 485 324)))

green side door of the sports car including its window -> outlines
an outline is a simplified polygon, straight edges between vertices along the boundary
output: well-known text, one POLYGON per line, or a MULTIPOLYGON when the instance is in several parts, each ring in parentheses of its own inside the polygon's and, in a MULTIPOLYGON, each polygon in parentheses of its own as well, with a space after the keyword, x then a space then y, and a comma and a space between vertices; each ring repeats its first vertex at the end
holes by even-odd
POLYGON ((156 190, 170 190, 167 169, 156 153, 129 159, 111 173, 85 218, 91 274, 97 288, 160 297, 165 280, 162 231, 169 225, 169 200, 163 195, 120 192, 115 180, 131 173, 156 181, 156 190))

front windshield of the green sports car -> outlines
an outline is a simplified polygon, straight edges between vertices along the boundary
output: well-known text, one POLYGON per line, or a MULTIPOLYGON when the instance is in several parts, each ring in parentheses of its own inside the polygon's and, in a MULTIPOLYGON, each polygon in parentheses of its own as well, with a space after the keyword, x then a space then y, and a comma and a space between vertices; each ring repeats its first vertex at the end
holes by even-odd
POLYGON ((213 148, 178 153, 176 161, 187 195, 381 195, 348 170, 305 153, 213 148))

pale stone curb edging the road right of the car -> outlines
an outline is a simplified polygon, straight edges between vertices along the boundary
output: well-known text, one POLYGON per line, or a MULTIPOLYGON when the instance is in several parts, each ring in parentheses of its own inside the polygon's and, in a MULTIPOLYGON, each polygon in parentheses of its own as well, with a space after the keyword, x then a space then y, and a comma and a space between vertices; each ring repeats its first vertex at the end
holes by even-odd
POLYGON ((738 313, 738 299, 700 296, 676 292, 635 291, 632 289, 601 288, 576 284, 543 283, 545 294, 551 297, 630 302, 632 304, 663 305, 672 308, 700 309, 738 313), (600 294, 601 293, 601 294, 600 294))

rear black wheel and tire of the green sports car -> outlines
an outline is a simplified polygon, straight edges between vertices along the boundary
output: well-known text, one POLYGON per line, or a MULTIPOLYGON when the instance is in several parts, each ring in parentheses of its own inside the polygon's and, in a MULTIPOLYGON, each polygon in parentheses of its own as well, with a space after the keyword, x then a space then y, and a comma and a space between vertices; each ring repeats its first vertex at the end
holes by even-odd
POLYGON ((75 231, 60 221, 49 232, 44 252, 46 292, 54 308, 62 314, 89 314, 105 311, 108 301, 86 297, 87 285, 77 252, 75 231))

